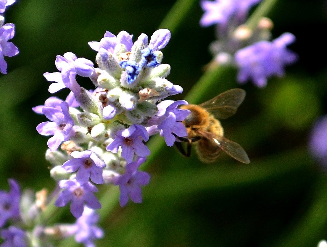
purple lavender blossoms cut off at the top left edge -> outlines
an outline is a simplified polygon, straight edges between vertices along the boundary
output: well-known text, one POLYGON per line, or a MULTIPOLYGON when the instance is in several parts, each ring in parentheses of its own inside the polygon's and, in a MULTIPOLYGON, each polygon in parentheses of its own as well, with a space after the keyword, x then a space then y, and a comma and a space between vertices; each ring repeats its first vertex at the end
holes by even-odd
POLYGON ((5 18, 1 15, 6 7, 12 5, 16 0, 0 0, 0 72, 7 74, 7 63, 4 56, 12 57, 19 53, 18 48, 9 40, 15 35, 15 25, 5 23, 5 18))

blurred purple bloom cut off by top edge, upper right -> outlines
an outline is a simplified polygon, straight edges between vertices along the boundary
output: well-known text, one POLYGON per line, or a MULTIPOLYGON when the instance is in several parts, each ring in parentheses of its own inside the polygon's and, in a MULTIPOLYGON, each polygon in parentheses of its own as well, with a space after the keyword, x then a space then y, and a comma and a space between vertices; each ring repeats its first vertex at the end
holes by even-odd
POLYGON ((201 8, 205 11, 201 20, 201 26, 220 24, 226 26, 227 22, 235 17, 243 21, 249 9, 261 0, 202 0, 201 8))

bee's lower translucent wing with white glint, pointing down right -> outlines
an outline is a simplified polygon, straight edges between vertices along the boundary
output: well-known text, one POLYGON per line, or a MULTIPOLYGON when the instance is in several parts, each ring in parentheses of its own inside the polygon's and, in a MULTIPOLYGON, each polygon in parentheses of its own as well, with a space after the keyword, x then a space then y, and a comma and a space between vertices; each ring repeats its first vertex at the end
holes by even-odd
POLYGON ((249 156, 245 152, 245 150, 236 142, 228 140, 226 137, 217 136, 211 132, 207 131, 198 131, 204 138, 208 140, 212 140, 215 142, 218 147, 223 150, 226 154, 233 157, 234 159, 242 162, 242 163, 250 163, 249 156))

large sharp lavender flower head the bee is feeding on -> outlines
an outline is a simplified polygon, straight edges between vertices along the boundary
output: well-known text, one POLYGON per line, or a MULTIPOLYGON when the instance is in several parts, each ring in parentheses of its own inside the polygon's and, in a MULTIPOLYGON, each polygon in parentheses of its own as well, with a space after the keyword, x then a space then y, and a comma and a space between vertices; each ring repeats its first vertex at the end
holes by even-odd
POLYGON ((70 93, 65 101, 52 96, 33 108, 49 120, 36 129, 52 136, 46 158, 53 164, 51 176, 62 189, 55 205, 70 204, 78 220, 85 207, 101 207, 94 194, 99 184, 119 186, 121 206, 129 199, 141 203, 141 186, 150 180, 148 173, 138 170, 150 154, 145 142, 158 133, 172 146, 176 136, 187 134, 181 121, 189 111, 178 108, 187 102, 163 100, 182 92, 165 79, 170 66, 161 63, 170 31, 157 30, 150 41, 146 34, 135 42, 132 37, 126 31, 117 36, 107 31, 100 41, 89 42, 97 52, 97 68, 71 52, 57 56, 59 72, 44 73, 52 82, 49 92, 68 88, 70 93), (89 77, 95 89, 80 87, 77 75, 89 77))

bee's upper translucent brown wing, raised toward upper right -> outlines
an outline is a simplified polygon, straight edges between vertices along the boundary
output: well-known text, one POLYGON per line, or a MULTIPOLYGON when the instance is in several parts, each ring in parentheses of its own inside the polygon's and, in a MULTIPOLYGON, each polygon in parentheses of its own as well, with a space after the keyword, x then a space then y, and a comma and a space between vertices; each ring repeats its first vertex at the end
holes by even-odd
POLYGON ((199 106, 205 108, 215 118, 225 119, 235 114, 244 97, 245 91, 243 89, 234 88, 217 95, 215 98, 199 106))

